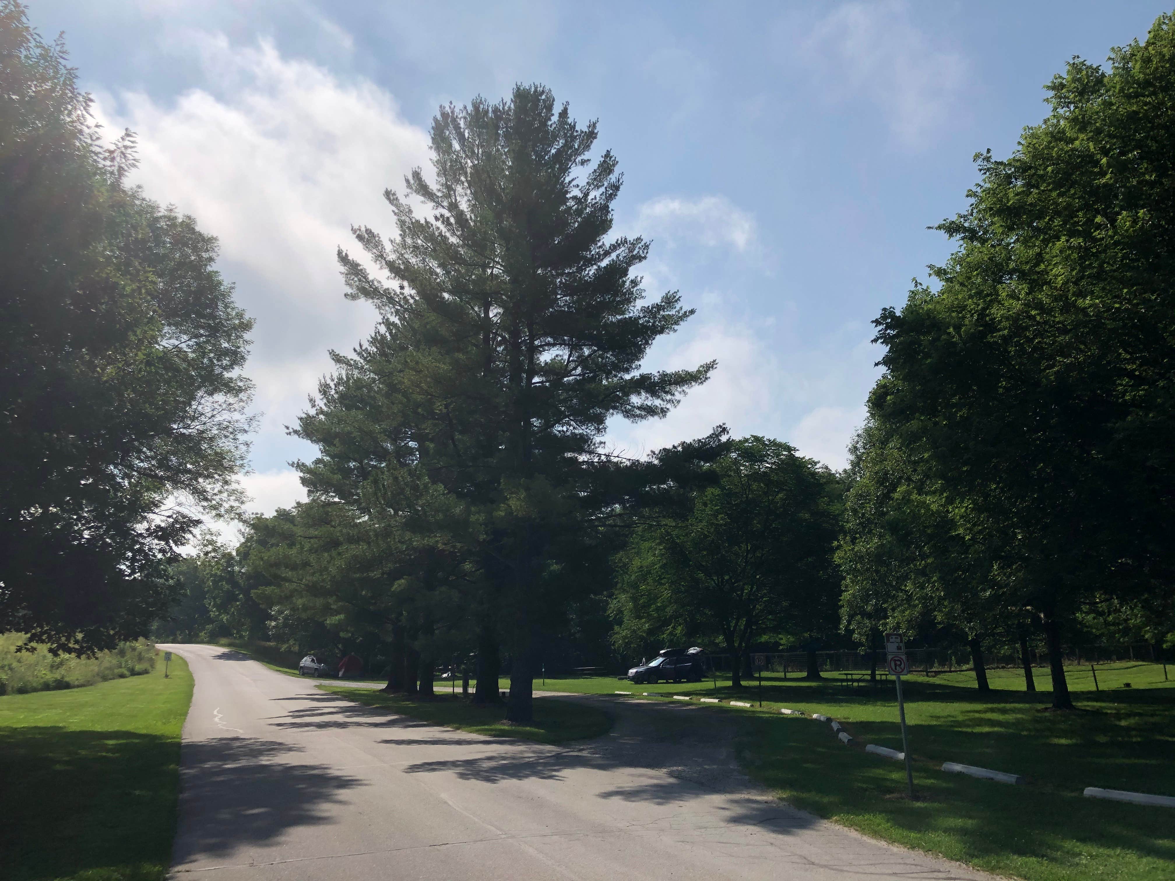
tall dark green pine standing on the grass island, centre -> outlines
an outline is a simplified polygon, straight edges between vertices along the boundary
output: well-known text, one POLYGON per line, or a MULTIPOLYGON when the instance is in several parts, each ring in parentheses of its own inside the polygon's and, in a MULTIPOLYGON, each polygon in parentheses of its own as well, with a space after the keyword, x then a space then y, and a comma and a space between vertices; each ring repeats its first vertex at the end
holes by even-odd
POLYGON ((302 471, 323 503, 412 466, 461 505, 484 583, 471 612, 483 654, 499 633, 510 652, 515 721, 531 718, 538 633, 591 583, 607 421, 663 416, 712 368, 639 370, 691 312, 677 294, 642 302, 647 246, 610 237, 622 179, 610 153, 592 164, 596 136, 542 86, 442 108, 434 180, 385 193, 397 235, 356 230, 392 284, 340 255, 349 296, 384 320, 298 429, 322 450, 302 471))

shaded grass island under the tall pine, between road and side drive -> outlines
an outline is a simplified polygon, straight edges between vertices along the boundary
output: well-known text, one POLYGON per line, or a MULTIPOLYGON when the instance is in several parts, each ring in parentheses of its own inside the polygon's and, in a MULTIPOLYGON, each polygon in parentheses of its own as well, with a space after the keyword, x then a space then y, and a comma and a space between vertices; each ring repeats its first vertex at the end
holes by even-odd
POLYGON ((612 718, 603 709, 569 704, 550 698, 535 699, 532 725, 508 722, 502 704, 478 705, 465 698, 437 692, 430 700, 409 698, 403 694, 383 694, 370 688, 345 688, 323 685, 323 691, 354 700, 369 707, 381 707, 394 713, 410 715, 457 731, 471 731, 495 738, 522 738, 540 744, 563 744, 606 734, 612 727, 612 718))

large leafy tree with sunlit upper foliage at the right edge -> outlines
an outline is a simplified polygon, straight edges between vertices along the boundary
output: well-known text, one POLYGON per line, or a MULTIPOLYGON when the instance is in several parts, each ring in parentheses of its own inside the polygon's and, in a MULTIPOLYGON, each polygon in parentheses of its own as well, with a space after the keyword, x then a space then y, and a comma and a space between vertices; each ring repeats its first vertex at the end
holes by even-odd
POLYGON ((1045 631, 1053 700, 1083 605, 1171 590, 1175 26, 1074 60, 1052 113, 979 157, 960 247, 878 320, 870 399, 1045 631))

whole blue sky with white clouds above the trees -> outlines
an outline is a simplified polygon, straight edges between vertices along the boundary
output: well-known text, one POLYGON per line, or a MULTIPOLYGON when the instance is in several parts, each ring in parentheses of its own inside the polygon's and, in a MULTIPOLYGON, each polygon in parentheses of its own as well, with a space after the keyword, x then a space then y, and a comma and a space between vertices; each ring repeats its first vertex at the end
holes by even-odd
MULTIPOLYGON (((1168 0, 1169 2, 1169 0, 1168 0)), ((792 442, 834 468, 877 377, 871 320, 949 251, 972 155, 1007 155, 1073 55, 1143 39, 1157 2, 314 4, 33 0, 66 32, 137 180, 221 240, 256 318, 264 412, 243 484, 269 512, 306 396, 371 328, 343 298, 348 227, 391 231, 384 187, 428 163, 443 102, 543 82, 625 173, 617 224, 653 240, 650 294, 698 311, 649 366, 719 361, 666 419, 612 426, 630 453, 705 433, 792 442)))

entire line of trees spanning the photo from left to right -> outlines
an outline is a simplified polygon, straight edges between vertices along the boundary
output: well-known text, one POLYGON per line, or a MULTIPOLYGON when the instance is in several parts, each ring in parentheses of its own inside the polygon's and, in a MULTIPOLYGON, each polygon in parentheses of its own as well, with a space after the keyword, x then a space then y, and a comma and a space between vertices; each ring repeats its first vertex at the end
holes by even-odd
POLYGON ((515 721, 560 646, 697 641, 738 685, 752 650, 900 628, 967 645, 982 688, 985 645, 1042 641, 1065 708, 1075 633, 1175 644, 1170 16, 1074 60, 1013 155, 978 157, 938 227, 955 251, 874 322, 842 472, 721 425, 611 449, 714 370, 642 366, 692 310, 647 297, 649 243, 613 234, 596 122, 539 85, 442 107, 430 173, 384 193, 392 234, 338 251, 380 318, 293 430, 307 502, 187 556, 189 511, 233 503, 249 320, 215 241, 125 184, 129 135, 101 147, 61 45, 9 0, 0 40, 0 630, 363 645, 423 693, 461 659, 482 701, 508 663, 515 721))

